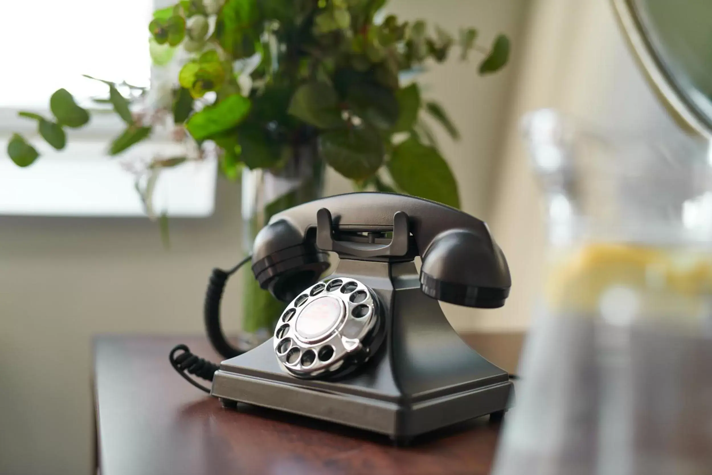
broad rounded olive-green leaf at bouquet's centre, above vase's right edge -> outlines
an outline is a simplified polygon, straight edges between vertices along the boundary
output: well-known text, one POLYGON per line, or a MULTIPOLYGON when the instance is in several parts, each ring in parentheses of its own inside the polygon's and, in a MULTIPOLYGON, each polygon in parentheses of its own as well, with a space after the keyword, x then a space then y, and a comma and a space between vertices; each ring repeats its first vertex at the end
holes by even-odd
POLYGON ((323 82, 301 85, 292 96, 288 112, 322 129, 344 125, 336 93, 330 85, 323 82))

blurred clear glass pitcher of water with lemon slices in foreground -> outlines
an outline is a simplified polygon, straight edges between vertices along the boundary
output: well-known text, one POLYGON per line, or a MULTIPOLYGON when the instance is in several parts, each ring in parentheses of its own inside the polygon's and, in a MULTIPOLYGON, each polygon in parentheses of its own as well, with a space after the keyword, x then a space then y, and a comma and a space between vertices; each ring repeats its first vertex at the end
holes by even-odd
POLYGON ((712 166, 676 132, 524 122, 545 288, 495 475, 712 473, 712 166))

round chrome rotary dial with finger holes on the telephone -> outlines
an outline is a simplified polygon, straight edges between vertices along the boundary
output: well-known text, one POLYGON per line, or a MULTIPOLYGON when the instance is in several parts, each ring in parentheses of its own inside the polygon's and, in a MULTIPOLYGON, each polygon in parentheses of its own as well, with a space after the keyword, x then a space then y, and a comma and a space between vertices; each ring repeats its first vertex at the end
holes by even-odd
POLYGON ((315 283, 282 313, 274 332, 277 359, 300 377, 332 375, 370 357, 379 324, 377 301, 352 278, 315 283))

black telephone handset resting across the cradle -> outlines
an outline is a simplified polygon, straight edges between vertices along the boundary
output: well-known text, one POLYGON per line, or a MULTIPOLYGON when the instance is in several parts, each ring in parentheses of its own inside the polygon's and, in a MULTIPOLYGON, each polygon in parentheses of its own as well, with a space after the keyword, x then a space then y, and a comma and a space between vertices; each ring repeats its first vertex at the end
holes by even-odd
POLYGON ((276 214, 253 244, 252 270, 262 288, 290 301, 328 268, 324 251, 356 259, 422 256, 422 291, 461 306, 501 307, 511 286, 504 254, 483 221, 388 193, 342 194, 276 214), (384 241, 376 236, 387 232, 388 244, 360 235, 384 241))

